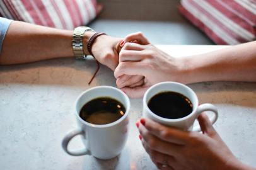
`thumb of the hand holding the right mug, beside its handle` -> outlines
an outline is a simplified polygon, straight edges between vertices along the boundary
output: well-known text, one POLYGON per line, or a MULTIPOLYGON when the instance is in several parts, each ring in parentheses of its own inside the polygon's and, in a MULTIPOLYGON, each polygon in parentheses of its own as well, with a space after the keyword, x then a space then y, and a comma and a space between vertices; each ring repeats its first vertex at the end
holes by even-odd
POLYGON ((201 127, 202 133, 206 133, 209 136, 216 134, 216 130, 212 127, 212 123, 205 113, 201 113, 201 115, 198 116, 197 120, 201 127))

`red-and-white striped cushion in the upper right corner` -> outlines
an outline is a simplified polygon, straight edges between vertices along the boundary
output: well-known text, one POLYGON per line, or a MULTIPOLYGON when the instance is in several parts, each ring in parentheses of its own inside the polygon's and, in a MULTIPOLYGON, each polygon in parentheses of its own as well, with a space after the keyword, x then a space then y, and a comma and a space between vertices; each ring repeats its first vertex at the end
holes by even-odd
POLYGON ((179 10, 217 44, 256 39, 255 0, 182 0, 179 10))

